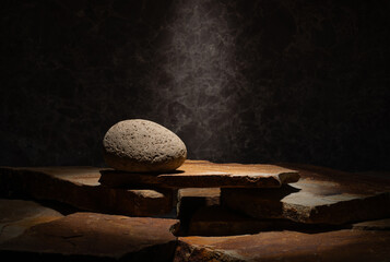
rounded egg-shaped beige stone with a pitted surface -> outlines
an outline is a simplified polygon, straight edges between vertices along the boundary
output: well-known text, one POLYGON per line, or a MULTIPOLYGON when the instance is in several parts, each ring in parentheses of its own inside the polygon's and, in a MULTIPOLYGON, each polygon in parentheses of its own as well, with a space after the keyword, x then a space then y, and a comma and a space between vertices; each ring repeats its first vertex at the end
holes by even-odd
POLYGON ((114 124, 103 140, 108 166, 130 172, 172 171, 187 157, 185 143, 158 123, 131 119, 114 124))

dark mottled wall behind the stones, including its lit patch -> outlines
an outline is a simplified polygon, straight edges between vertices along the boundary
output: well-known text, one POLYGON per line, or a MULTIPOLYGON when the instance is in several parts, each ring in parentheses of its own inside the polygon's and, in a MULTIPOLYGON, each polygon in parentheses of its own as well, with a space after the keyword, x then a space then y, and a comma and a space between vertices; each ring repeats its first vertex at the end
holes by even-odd
POLYGON ((193 159, 390 169, 388 0, 0 5, 0 165, 103 166, 143 118, 193 159))

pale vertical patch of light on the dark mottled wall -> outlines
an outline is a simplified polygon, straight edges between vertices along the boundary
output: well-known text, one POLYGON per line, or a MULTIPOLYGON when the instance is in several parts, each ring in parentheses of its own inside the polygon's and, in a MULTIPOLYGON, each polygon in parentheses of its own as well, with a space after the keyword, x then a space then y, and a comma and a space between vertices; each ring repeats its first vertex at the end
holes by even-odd
POLYGON ((170 12, 156 45, 158 76, 151 78, 163 115, 157 120, 182 138, 189 157, 221 159, 231 154, 232 110, 241 84, 227 8, 212 0, 179 0, 170 12))

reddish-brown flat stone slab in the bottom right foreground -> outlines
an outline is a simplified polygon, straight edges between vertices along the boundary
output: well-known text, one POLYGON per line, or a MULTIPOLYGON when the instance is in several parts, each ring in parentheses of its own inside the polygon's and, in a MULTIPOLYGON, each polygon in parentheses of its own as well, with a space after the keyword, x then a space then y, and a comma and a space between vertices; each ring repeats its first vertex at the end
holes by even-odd
POLYGON ((181 237, 175 262, 389 261, 390 231, 270 231, 232 237, 181 237))

